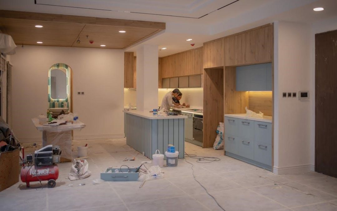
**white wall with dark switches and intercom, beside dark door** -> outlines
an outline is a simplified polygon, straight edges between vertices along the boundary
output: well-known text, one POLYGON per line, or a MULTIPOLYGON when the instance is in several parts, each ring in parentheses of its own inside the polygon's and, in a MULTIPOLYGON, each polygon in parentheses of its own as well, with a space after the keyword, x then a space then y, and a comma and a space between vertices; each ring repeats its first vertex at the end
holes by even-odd
POLYGON ((282 98, 282 92, 312 91, 310 26, 280 21, 274 27, 274 173, 313 170, 310 162, 312 98, 309 101, 282 98))

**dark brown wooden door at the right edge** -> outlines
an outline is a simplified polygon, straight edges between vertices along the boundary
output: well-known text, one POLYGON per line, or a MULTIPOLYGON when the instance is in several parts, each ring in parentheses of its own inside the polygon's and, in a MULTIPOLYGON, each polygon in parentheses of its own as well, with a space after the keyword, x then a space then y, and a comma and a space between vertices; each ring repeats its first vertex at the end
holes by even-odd
POLYGON ((337 30, 315 35, 315 171, 337 177, 337 30))

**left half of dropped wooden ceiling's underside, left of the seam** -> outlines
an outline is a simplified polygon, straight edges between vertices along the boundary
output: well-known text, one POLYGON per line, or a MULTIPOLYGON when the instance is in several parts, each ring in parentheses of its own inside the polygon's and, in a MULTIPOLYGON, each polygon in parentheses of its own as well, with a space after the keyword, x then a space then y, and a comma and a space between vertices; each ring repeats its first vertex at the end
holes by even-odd
POLYGON ((41 45, 70 47, 85 25, 76 23, 55 23, 22 19, 0 18, 0 29, 13 37, 17 45, 41 45), (36 28, 35 25, 42 25, 36 28))

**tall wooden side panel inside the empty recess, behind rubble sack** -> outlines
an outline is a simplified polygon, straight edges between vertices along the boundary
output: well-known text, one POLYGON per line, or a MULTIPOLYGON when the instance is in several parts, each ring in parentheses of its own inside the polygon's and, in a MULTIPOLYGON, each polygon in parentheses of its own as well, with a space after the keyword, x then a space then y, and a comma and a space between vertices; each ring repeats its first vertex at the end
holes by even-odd
POLYGON ((223 122, 223 68, 204 69, 203 147, 213 147, 216 129, 223 122))

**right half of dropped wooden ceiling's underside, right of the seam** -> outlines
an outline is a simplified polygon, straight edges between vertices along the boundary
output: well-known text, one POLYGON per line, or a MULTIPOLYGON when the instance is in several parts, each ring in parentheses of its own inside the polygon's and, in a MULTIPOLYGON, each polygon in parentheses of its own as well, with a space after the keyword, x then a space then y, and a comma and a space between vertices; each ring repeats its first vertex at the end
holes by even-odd
POLYGON ((88 24, 85 25, 80 34, 81 43, 77 44, 75 42, 72 47, 100 48, 100 45, 106 45, 105 48, 122 49, 137 43, 142 39, 145 39, 156 31, 158 30, 149 28, 131 28, 88 24), (124 30, 126 33, 120 33, 120 30, 124 30), (86 38, 87 35, 88 38, 86 38), (94 43, 90 44, 90 40, 93 40, 94 43))

